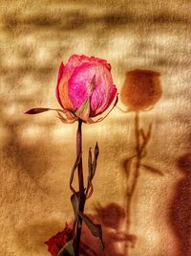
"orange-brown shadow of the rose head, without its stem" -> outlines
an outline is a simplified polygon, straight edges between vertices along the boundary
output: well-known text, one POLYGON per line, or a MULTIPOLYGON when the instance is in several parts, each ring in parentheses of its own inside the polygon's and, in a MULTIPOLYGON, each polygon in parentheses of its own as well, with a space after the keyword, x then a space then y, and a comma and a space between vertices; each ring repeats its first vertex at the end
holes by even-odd
POLYGON ((159 73, 136 69, 126 74, 120 99, 129 111, 148 110, 161 97, 159 73))

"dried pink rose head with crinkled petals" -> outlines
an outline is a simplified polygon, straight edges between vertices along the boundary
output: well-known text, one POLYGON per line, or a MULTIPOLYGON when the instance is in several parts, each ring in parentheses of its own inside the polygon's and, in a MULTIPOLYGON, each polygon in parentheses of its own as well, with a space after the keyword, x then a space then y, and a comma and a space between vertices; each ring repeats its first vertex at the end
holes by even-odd
POLYGON ((116 96, 111 66, 106 60, 73 55, 66 65, 60 64, 56 97, 71 118, 91 123, 91 118, 102 114, 116 96))

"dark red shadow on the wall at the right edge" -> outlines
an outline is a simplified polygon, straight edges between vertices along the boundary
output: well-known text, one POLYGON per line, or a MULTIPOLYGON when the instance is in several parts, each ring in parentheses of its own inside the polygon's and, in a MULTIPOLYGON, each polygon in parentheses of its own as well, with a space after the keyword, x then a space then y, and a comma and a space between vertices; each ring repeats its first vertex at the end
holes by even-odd
POLYGON ((169 221, 180 243, 180 255, 191 255, 191 153, 180 156, 177 166, 183 175, 175 189, 169 221))

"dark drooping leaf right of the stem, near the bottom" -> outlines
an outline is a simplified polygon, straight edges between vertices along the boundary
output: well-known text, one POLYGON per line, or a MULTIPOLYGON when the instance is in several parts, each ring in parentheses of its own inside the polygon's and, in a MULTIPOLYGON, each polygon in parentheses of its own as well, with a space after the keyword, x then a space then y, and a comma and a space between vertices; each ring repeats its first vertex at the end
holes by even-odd
POLYGON ((104 249, 104 244, 102 241, 102 229, 101 229, 101 225, 100 224, 95 224, 87 215, 78 212, 78 215, 81 217, 81 219, 86 223, 87 227, 90 229, 90 231, 92 232, 93 236, 95 236, 96 238, 99 238, 101 241, 101 244, 103 246, 104 249))

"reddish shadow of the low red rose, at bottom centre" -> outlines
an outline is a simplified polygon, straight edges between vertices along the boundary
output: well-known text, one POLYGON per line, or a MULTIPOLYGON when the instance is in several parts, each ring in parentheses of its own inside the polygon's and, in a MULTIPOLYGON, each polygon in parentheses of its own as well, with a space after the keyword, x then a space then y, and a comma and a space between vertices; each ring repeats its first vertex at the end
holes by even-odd
POLYGON ((84 242, 91 244, 91 248, 95 249, 96 255, 128 256, 126 254, 127 247, 130 245, 133 247, 137 237, 129 234, 125 229, 126 213, 124 208, 115 202, 106 206, 98 203, 95 207, 95 214, 89 216, 94 222, 102 226, 104 250, 99 241, 92 236, 84 225, 82 239, 84 242))

